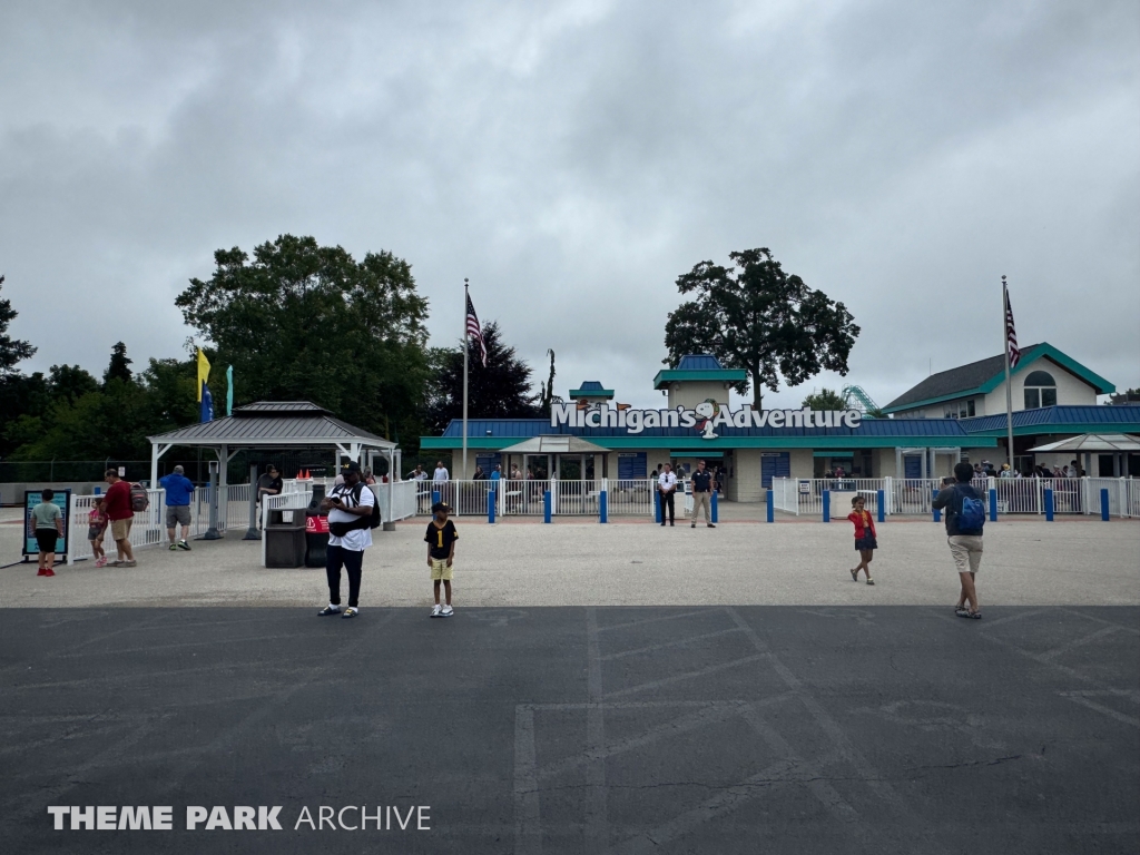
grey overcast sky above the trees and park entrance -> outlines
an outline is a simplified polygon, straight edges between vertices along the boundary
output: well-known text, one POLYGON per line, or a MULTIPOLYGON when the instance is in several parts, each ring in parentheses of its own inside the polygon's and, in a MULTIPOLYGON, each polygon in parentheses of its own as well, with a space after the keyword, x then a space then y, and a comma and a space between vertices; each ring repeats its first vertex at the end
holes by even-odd
MULTIPOLYGON (((213 251, 413 266, 556 391, 658 406, 675 280, 767 246, 863 328, 881 405, 1023 344, 1140 385, 1140 5, 0 6, 0 272, 39 353, 182 355, 213 251)), ((694 344, 694 349, 699 349, 694 344)))

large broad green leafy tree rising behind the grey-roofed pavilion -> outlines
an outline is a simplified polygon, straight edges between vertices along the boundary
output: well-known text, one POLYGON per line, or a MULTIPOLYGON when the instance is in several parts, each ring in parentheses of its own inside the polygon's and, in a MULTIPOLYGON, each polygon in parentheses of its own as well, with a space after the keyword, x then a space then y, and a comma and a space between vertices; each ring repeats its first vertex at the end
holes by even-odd
POLYGON ((418 435, 427 301, 406 261, 390 252, 356 261, 293 235, 255 247, 252 260, 234 247, 214 261, 213 276, 190 279, 176 304, 217 345, 213 365, 233 364, 235 405, 311 400, 368 431, 418 435))

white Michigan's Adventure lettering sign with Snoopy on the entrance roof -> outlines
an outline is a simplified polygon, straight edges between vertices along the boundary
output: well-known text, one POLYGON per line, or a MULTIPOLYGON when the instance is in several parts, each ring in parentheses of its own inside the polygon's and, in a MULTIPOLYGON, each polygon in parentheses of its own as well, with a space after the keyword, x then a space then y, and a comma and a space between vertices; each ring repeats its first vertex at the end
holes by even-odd
POLYGON ((551 405, 551 427, 605 427, 637 434, 650 427, 689 427, 701 439, 716 439, 717 427, 772 427, 795 430, 800 427, 848 429, 860 426, 863 414, 857 409, 752 409, 741 407, 730 410, 714 400, 706 400, 692 409, 630 409, 610 407, 580 407, 578 404, 551 405))

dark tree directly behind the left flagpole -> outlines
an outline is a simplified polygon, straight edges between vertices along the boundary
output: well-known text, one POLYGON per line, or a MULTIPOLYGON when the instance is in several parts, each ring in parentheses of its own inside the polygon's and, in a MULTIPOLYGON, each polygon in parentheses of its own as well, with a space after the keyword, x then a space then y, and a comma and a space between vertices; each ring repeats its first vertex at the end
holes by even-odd
MULTIPOLYGON (((530 391, 530 366, 503 342, 498 323, 483 325, 487 367, 479 345, 470 342, 467 414, 472 418, 536 418, 538 398, 530 391)), ((437 348, 432 352, 432 378, 427 401, 429 430, 440 432, 453 418, 463 418, 463 348, 437 348)))

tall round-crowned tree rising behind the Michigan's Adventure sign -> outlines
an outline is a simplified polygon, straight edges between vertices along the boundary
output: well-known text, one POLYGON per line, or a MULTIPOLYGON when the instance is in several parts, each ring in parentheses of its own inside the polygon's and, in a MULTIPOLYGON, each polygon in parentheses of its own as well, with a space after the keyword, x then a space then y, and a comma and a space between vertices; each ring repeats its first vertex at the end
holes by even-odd
POLYGON ((860 328, 842 303, 788 275, 767 249, 728 255, 725 268, 702 261, 677 278, 682 294, 695 294, 670 312, 665 325, 668 365, 685 353, 712 353, 726 368, 743 368, 760 408, 763 388, 780 389, 780 378, 799 385, 823 369, 847 374, 847 357, 860 328))

